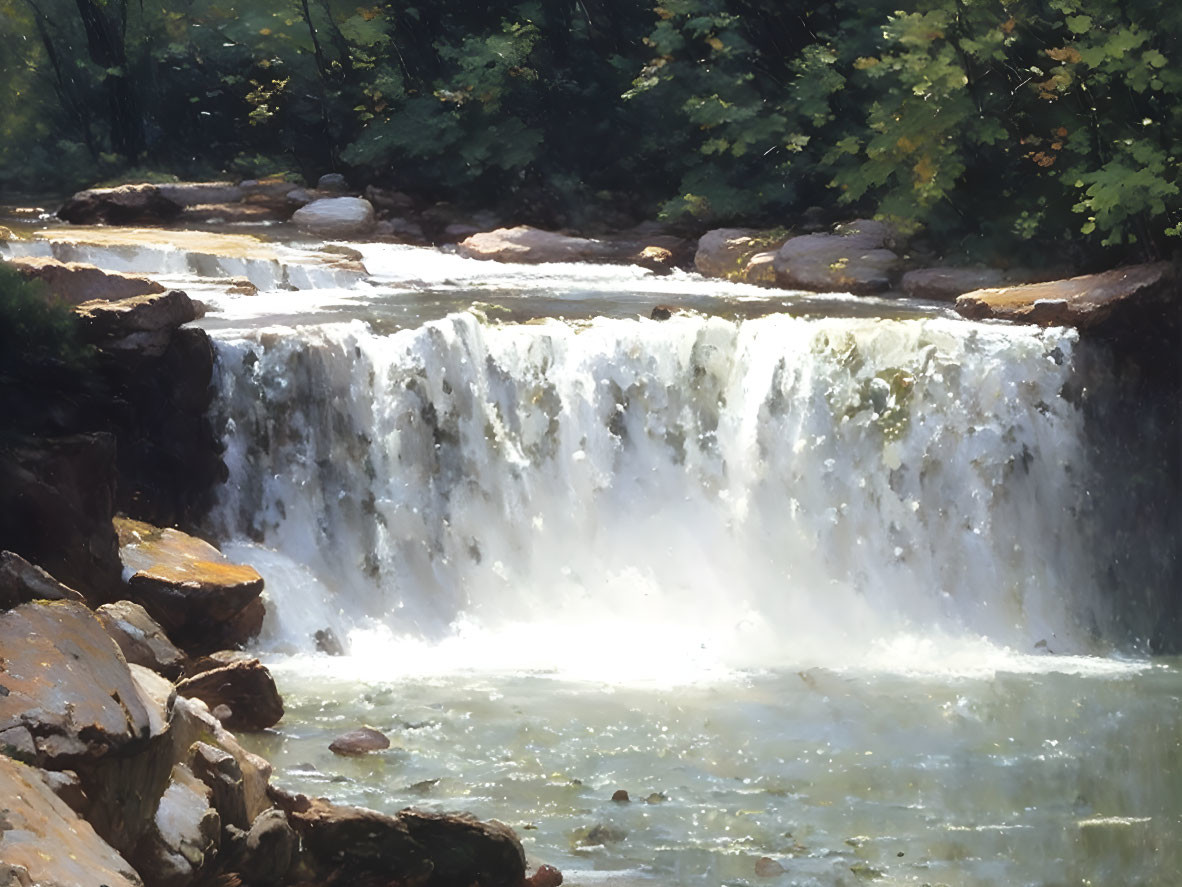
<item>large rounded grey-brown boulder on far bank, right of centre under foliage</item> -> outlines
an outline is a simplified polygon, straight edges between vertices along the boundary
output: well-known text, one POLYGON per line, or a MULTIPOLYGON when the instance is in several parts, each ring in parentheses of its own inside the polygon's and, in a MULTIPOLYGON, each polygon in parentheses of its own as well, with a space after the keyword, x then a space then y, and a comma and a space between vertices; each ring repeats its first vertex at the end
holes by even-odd
POLYGON ((834 234, 792 238, 775 253, 778 286, 824 292, 872 293, 890 287, 898 257, 886 248, 890 228, 858 220, 834 234))

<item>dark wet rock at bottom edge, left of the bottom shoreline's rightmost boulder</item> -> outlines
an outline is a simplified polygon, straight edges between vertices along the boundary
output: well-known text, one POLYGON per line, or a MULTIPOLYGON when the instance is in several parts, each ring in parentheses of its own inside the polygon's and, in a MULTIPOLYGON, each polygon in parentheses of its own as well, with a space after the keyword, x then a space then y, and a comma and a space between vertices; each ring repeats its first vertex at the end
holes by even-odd
MULTIPOLYGON (((410 836, 401 818, 359 807, 338 807, 325 799, 272 791, 303 846, 303 861, 319 880, 316 883, 368 883, 382 881, 424 886, 434 862, 422 843, 410 836)), ((453 881, 470 885, 472 881, 453 881)), ((483 887, 483 886, 482 886, 483 887)), ((492 885, 489 885, 492 887, 492 885)))

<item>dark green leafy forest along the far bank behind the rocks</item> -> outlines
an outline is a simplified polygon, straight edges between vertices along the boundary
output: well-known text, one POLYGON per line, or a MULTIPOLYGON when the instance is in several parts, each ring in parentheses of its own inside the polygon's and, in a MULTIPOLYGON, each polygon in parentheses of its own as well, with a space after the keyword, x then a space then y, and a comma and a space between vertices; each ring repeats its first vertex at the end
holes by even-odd
POLYGON ((1161 257, 1182 4, 0 0, 0 187, 344 171, 578 224, 1161 257))

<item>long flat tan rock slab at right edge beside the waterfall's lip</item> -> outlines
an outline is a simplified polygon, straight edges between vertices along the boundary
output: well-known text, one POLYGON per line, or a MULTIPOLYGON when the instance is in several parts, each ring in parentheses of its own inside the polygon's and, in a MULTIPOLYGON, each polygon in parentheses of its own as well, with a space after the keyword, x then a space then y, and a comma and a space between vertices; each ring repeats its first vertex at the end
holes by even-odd
POLYGON ((1043 326, 1098 330, 1134 312, 1173 305, 1177 276, 1168 261, 1129 265, 1069 280, 975 290, 956 299, 956 310, 973 319, 993 318, 1043 326))

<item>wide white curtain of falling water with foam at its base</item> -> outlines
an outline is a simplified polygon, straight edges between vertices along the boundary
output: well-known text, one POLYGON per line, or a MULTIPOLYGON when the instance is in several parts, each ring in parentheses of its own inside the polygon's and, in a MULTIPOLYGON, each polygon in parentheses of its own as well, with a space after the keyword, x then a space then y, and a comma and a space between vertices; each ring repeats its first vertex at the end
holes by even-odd
POLYGON ((243 331, 219 342, 213 522, 304 589, 273 602, 278 649, 332 628, 376 662, 397 641, 600 672, 1087 652, 1076 344, 787 315, 243 331))

